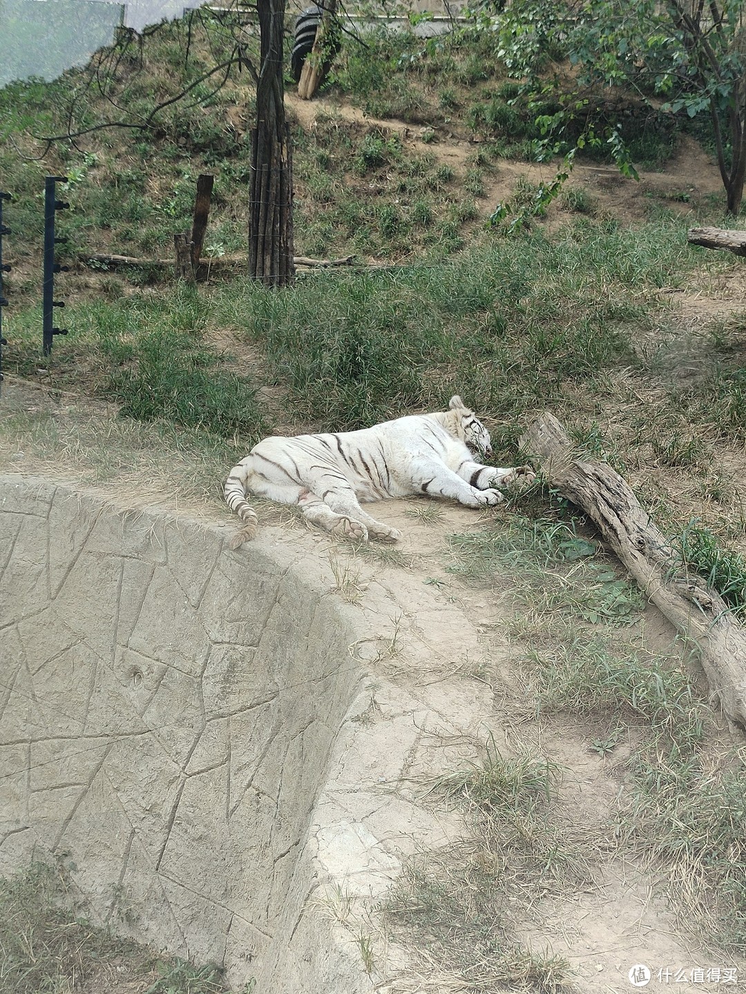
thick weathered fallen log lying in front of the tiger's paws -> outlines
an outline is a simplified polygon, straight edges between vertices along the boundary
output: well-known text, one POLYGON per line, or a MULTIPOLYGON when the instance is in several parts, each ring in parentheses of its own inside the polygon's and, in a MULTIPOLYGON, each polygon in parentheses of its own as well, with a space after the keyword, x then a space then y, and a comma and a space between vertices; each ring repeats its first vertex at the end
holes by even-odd
POLYGON ((577 458, 548 412, 521 439, 552 487, 581 507, 641 589, 691 639, 725 716, 746 730, 746 629, 728 604, 666 542, 629 484, 605 463, 577 458))

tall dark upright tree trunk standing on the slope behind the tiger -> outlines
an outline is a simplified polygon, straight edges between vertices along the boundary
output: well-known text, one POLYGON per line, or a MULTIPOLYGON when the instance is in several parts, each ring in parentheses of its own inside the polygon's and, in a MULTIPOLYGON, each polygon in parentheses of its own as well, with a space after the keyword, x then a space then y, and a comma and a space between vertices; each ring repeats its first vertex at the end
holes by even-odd
POLYGON ((285 286, 292 263, 292 159, 284 118, 284 0, 258 0, 262 65, 257 84, 249 205, 249 275, 285 286))

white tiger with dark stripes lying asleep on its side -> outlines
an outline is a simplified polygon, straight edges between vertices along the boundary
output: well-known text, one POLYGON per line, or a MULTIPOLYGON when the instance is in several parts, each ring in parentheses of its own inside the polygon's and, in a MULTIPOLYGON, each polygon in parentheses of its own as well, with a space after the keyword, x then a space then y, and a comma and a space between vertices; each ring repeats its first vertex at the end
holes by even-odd
POLYGON ((401 532, 366 514, 360 501, 428 494, 478 508, 502 500, 495 485, 534 478, 530 466, 483 466, 480 454, 492 454, 489 433, 461 397, 451 398, 448 411, 359 431, 265 438, 233 467, 225 485, 228 506, 244 523, 231 548, 257 531, 247 491, 297 504, 309 522, 329 532, 396 542, 401 532))

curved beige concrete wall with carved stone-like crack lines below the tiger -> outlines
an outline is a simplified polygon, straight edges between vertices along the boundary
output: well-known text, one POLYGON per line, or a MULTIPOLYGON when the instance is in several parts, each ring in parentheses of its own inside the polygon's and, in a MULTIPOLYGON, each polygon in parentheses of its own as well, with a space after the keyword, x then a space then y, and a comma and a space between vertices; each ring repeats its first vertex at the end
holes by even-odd
POLYGON ((219 529, 20 477, 0 479, 0 569, 0 873, 69 852, 138 937, 234 981, 284 962, 263 990, 336 989, 309 966, 319 932, 304 966, 289 947, 359 689, 339 602, 282 545, 231 553, 219 529))

